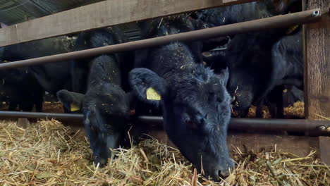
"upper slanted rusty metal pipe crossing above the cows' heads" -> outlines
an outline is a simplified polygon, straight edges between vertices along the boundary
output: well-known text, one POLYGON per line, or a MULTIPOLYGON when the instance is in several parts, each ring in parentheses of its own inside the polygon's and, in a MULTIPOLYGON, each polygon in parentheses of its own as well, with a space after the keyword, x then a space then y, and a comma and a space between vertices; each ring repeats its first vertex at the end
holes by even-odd
POLYGON ((15 61, 11 63, 2 63, 0 64, 0 69, 34 66, 44 63, 66 61, 74 58, 86 58, 91 56, 98 56, 101 54, 143 49, 151 46, 169 44, 170 42, 186 42, 193 40, 209 39, 212 37, 236 35, 245 32, 255 32, 259 30, 265 30, 265 29, 271 29, 277 27, 286 27, 290 25, 310 23, 312 21, 318 20, 319 18, 321 18, 321 11, 318 8, 310 11, 302 11, 298 13, 289 13, 282 16, 274 16, 271 18, 250 20, 243 23, 235 23, 231 25, 212 27, 203 30, 184 32, 176 35, 167 35, 164 37, 144 39, 135 42, 126 42, 126 43, 114 44, 110 46, 102 46, 96 49, 73 51, 65 54, 44 56, 40 58, 31 58, 23 61, 15 61))

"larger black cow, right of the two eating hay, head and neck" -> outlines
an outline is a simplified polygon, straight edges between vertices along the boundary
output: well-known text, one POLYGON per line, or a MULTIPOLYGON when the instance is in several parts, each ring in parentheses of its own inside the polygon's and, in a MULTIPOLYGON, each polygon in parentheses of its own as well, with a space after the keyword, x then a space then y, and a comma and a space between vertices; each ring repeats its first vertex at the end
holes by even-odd
MULTIPOLYGON (((171 29, 152 32, 159 36, 171 29)), ((130 72, 130 84, 140 100, 161 106, 164 128, 183 156, 199 171, 203 168, 206 176, 219 180, 234 166, 226 144, 231 118, 228 70, 214 74, 197 63, 191 49, 180 42, 149 49, 139 64, 145 68, 130 72)))

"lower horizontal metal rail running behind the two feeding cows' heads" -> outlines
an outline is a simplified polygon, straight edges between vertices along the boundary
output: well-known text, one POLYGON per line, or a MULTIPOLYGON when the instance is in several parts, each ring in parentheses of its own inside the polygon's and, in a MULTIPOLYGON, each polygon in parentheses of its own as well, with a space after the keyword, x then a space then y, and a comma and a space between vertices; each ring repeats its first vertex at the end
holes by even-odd
MULTIPOLYGON (((0 118, 54 118, 57 120, 82 120, 82 114, 77 113, 36 113, 0 111, 0 118)), ((162 126, 160 116, 138 116, 138 121, 147 125, 162 126)), ((287 119, 257 119, 232 118, 229 130, 259 130, 259 131, 290 131, 307 132, 310 135, 330 136, 330 121, 327 120, 287 120, 287 119)))

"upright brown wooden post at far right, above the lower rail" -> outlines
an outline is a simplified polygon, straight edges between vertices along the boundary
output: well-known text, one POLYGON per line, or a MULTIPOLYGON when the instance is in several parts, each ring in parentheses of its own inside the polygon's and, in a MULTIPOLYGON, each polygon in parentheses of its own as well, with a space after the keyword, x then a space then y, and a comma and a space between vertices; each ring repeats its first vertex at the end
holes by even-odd
MULTIPOLYGON (((330 0, 310 0, 307 9, 329 8, 330 0)), ((305 25, 305 116, 330 118, 330 16, 305 25), (319 115, 319 116, 317 116, 319 115)))

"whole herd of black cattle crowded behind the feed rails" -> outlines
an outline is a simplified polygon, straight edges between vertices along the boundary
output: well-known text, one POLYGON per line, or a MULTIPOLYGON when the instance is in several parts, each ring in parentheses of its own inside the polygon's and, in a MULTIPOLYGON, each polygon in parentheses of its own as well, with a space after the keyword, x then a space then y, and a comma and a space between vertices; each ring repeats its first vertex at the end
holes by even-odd
MULTIPOLYGON (((300 11, 297 2, 259 1, 138 24, 146 39, 300 11)), ((75 51, 128 41, 118 27, 76 37, 75 51)), ((36 41, 2 48, 1 59, 18 61, 63 52, 67 51, 36 41)), ((31 111, 35 106, 42 111, 45 91, 57 95, 66 112, 80 110, 94 161, 101 166, 111 157, 109 149, 121 144, 135 109, 135 116, 162 114, 164 129, 181 153, 218 180, 234 167, 226 144, 232 111, 244 117, 253 104, 260 116, 259 108, 267 105, 274 118, 281 118, 283 104, 302 99, 302 32, 295 26, 173 42, 1 70, 0 75, 1 101, 8 102, 9 110, 31 111), (286 97, 283 89, 288 89, 286 97)))

